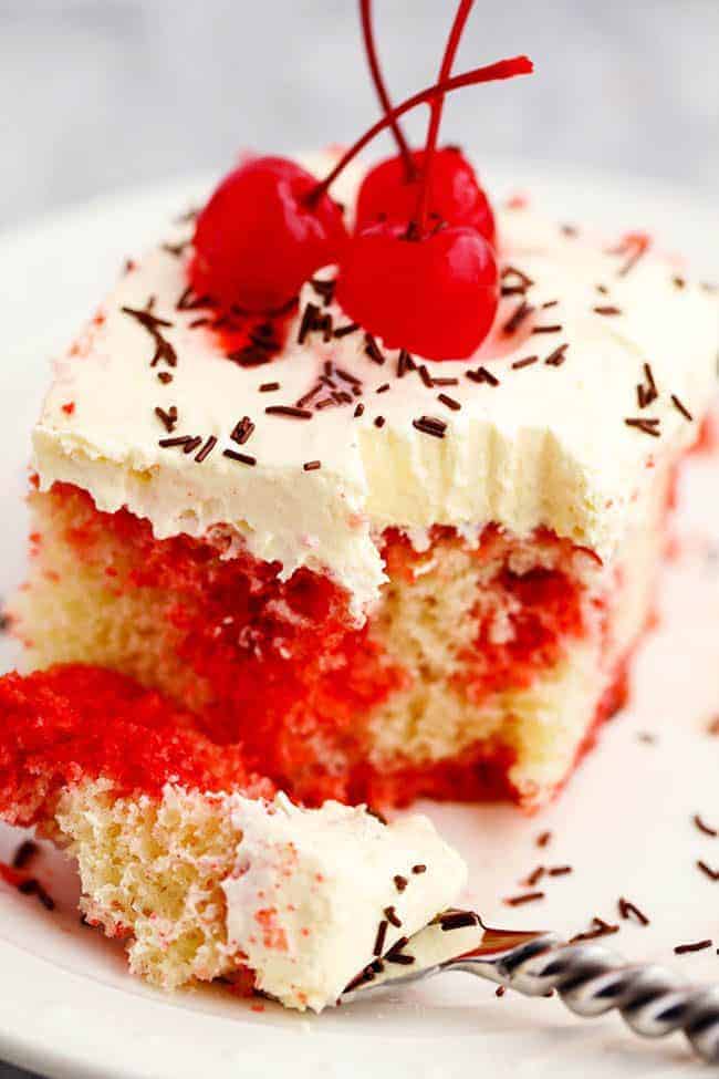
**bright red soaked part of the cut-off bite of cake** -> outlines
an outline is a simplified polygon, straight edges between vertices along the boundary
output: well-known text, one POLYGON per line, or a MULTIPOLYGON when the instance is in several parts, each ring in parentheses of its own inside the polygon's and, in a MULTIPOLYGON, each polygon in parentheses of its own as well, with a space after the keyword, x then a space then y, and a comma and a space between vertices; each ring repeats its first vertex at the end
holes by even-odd
MULTIPOLYGON (((238 749, 219 748, 155 691, 98 667, 66 665, 0 679, 0 815, 46 817, 61 788, 110 779, 118 793, 263 789, 238 749)), ((271 785, 264 788, 268 792, 271 785)))

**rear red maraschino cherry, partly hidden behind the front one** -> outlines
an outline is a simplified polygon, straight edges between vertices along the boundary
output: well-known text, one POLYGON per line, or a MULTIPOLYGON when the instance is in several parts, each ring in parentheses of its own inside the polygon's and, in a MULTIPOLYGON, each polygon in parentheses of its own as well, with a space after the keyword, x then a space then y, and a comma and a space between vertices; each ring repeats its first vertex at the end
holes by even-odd
MULTIPOLYGON (((451 73, 456 46, 471 3, 459 12, 455 23, 454 48, 448 48, 440 80, 451 73)), ((387 94, 372 28, 372 0, 361 0, 362 30, 367 62, 377 96, 385 112, 392 108, 387 94)), ((410 220, 419 197, 419 184, 424 173, 425 151, 411 151, 398 123, 392 125, 399 153, 381 162, 366 174, 359 187, 355 211, 355 227, 379 220, 410 220)), ((437 149, 433 162, 429 217, 447 225, 469 225, 481 232, 490 243, 496 243, 494 215, 487 195, 477 181, 475 169, 457 146, 437 149)))

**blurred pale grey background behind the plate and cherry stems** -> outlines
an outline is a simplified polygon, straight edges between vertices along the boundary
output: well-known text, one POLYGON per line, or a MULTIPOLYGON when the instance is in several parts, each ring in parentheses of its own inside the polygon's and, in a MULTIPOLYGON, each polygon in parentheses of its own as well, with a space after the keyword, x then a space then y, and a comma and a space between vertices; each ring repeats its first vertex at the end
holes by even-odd
MULTIPOLYGON (((398 97, 433 79, 454 3, 376 10, 398 97)), ((456 97, 448 138, 664 177, 719 207, 719 0, 477 4, 458 66, 517 52, 533 80, 456 97)), ((376 115, 354 0, 0 0, 0 229, 244 146, 348 142, 376 115)))

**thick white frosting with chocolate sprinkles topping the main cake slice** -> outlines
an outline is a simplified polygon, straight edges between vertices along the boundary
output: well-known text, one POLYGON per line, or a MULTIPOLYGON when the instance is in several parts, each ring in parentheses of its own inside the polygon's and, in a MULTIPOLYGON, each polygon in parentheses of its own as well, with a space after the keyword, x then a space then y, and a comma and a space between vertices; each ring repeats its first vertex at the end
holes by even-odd
MULTIPOLYGON (((421 541, 435 523, 472 531, 491 520, 518 535, 544 525, 611 556, 646 468, 697 435, 671 394, 701 417, 715 378, 716 297, 690 282, 678 288, 671 266, 652 255, 621 276, 626 257, 566 236, 528 209, 502 211, 499 227, 502 262, 535 282, 528 300, 538 310, 508 341, 501 325, 521 299, 508 297, 493 335, 471 362, 428 363, 431 375, 459 380, 450 387, 428 388, 416 373, 398 380, 397 354, 387 353, 378 366, 365 354, 362 333, 327 344, 313 333, 299 345, 296 325, 271 364, 240 369, 209 331, 190 326, 202 312, 176 310, 185 258, 150 252, 105 302, 104 321, 91 324, 79 354, 56 364, 34 430, 41 486, 67 480, 87 489, 102 510, 128 506, 159 538, 229 526, 252 554, 280 562, 284 578, 301 566, 330 572, 358 619, 384 580, 376 539, 388 526, 421 541), (154 313, 173 323, 163 331, 178 356, 168 385, 157 380, 157 371, 168 369, 150 367, 149 334, 121 311, 143 308, 150 295, 154 313), (598 314, 600 305, 622 314, 598 314), (528 336, 534 321, 562 330, 528 336), (548 366, 543 360, 565 343, 566 362, 548 366), (533 366, 511 367, 535 353, 541 359, 533 366), (353 418, 353 404, 326 408, 311 422, 264 414, 268 405, 294 404, 326 360, 362 378, 361 418, 353 418), (640 415, 636 386, 645 361, 660 396, 642 415, 660 419, 660 438, 624 423, 640 415), (478 363, 501 385, 470 382, 465 372, 478 363), (258 392, 275 381, 280 391, 258 392), (377 394, 384 383, 389 390, 377 394), (442 391, 461 411, 437 401, 442 391), (202 464, 195 454, 159 447, 166 432, 156 405, 177 407, 175 434, 218 438, 202 464), (444 439, 413 427, 424 414, 448 424, 444 439), (243 415, 257 428, 239 447, 229 435, 243 415), (382 429, 374 424, 381 415, 382 429), (257 467, 223 457, 225 448, 251 454, 257 467), (322 468, 303 470, 312 460, 322 468)), ((301 310, 308 300, 321 302, 309 284, 301 310)), ((326 310, 335 326, 347 322, 335 304, 326 310)))

